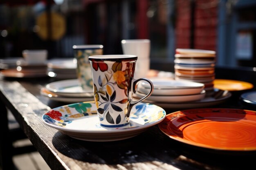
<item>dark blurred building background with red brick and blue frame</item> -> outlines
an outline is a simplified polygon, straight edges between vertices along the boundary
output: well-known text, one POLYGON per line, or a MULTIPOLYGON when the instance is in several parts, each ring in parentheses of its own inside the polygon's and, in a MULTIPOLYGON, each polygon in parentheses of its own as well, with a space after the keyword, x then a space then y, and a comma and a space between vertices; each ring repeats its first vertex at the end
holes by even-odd
POLYGON ((1 0, 0 57, 47 49, 73 57, 72 46, 103 44, 122 54, 121 40, 151 40, 153 60, 176 48, 217 52, 217 64, 256 67, 256 0, 1 0))

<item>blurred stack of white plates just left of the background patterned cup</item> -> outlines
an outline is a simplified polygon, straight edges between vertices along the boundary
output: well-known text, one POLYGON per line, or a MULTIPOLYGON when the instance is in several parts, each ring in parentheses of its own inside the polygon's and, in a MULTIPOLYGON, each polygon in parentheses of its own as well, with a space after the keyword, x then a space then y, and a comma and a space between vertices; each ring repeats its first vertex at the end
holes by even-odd
POLYGON ((58 79, 76 78, 76 59, 54 59, 47 64, 47 75, 58 79))

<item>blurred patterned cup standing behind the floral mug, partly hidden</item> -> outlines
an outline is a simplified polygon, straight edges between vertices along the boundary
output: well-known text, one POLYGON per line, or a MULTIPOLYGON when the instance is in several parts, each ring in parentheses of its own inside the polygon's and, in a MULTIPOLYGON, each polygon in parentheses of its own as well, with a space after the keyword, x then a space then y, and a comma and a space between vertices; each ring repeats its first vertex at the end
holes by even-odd
POLYGON ((92 89, 92 71, 88 57, 102 55, 103 45, 74 45, 74 57, 77 60, 76 75, 83 90, 92 89))

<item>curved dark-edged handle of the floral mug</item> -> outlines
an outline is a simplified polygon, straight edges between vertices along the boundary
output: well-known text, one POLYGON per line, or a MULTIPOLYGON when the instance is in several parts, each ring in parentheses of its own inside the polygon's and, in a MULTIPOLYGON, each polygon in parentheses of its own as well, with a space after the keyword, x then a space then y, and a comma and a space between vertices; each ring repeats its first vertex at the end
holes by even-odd
POLYGON ((137 100, 137 101, 131 101, 130 102, 130 106, 128 107, 128 117, 130 115, 130 110, 132 109, 132 106, 134 106, 135 104, 145 100, 146 98, 148 98, 154 91, 154 85, 153 83, 149 80, 149 79, 146 79, 146 78, 140 78, 140 79, 132 79, 132 92, 133 93, 136 93, 136 84, 139 82, 139 81, 145 81, 145 82, 148 82, 149 85, 150 85, 150 91, 149 93, 142 97, 141 99, 137 100))

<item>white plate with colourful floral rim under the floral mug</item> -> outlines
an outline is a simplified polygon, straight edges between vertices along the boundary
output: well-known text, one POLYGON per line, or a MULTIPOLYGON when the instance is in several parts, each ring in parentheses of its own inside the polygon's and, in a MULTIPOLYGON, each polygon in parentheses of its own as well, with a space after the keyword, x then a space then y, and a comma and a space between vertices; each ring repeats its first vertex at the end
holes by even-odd
POLYGON ((139 135, 166 116, 164 109, 159 106, 139 103, 132 107, 128 126, 103 128, 99 125, 96 110, 93 102, 69 104, 50 110, 42 116, 42 120, 47 126, 75 139, 117 141, 139 135))

